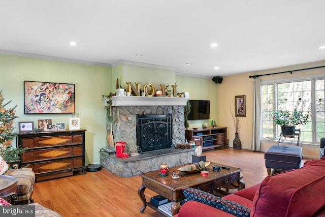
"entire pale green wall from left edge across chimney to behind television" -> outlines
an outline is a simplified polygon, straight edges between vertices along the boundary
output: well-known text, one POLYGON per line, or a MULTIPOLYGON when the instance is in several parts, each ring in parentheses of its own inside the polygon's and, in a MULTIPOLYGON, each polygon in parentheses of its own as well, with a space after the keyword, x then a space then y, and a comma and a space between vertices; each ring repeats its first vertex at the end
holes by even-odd
MULTIPOLYGON (((114 67, 93 66, 0 54, 0 89, 3 90, 6 106, 17 105, 15 131, 18 122, 52 118, 53 122, 65 122, 68 128, 69 118, 73 114, 23 114, 23 81, 46 81, 76 84, 76 113, 80 117, 80 126, 86 129, 86 164, 99 163, 99 150, 106 146, 105 105, 102 95, 115 91, 116 78, 126 88, 126 81, 152 83, 160 89, 160 84, 177 84, 177 92, 188 91, 191 99, 211 100, 210 117, 217 119, 217 84, 210 78, 198 78, 176 75, 173 70, 120 64, 114 67)), ((190 127, 201 126, 210 120, 190 121, 190 127)), ((16 141, 14 141, 15 143, 16 141)))

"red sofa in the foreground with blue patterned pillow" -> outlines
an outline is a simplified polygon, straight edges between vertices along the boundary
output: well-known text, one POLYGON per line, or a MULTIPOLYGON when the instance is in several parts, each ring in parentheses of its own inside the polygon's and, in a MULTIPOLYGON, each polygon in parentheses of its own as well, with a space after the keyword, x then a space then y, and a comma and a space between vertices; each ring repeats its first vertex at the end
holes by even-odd
POLYGON ((308 160, 297 170, 267 176, 259 184, 223 197, 225 200, 221 203, 220 198, 199 190, 187 188, 183 191, 186 191, 185 196, 196 195, 190 195, 190 200, 175 215, 177 217, 220 217, 234 216, 234 213, 254 217, 325 216, 325 158, 308 160), (241 212, 236 204, 248 208, 250 213, 241 212))

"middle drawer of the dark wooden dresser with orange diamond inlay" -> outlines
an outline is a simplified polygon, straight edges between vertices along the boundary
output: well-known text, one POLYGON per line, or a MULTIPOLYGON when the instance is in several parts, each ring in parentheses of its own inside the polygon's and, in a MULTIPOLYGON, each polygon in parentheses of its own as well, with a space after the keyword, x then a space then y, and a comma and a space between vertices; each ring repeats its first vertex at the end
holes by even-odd
POLYGON ((22 153, 22 163, 81 155, 82 146, 26 151, 22 153))

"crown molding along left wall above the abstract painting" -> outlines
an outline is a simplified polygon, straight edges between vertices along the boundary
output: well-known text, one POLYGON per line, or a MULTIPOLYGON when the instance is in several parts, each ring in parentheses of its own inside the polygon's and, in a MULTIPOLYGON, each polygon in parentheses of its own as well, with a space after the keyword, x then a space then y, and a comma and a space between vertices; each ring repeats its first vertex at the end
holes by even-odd
POLYGON ((97 63, 97 62, 84 61, 78 59, 69 59, 69 58, 62 58, 62 57, 55 57, 55 56, 39 55, 39 54, 32 54, 32 53, 23 53, 23 52, 9 51, 9 50, 1 50, 1 49, 0 49, 0 54, 48 59, 48 60, 63 61, 63 62, 76 63, 76 64, 112 67, 111 64, 97 63))

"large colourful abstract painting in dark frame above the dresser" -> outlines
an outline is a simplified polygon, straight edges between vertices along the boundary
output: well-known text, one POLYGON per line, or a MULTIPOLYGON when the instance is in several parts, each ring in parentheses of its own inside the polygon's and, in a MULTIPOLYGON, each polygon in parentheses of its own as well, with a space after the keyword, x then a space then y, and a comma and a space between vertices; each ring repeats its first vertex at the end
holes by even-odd
POLYGON ((75 84, 24 81, 24 114, 75 113, 75 84))

